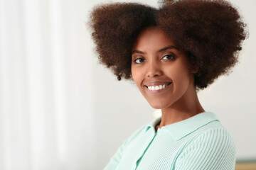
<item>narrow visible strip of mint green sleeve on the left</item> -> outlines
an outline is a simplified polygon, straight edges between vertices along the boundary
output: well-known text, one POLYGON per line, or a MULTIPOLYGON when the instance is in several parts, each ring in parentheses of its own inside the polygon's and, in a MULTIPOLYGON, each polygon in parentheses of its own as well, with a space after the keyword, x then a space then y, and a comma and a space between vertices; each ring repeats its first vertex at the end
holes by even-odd
POLYGON ((126 149, 127 145, 129 145, 134 138, 136 138, 142 130, 144 130, 144 125, 139 128, 139 130, 136 130, 135 132, 130 135, 130 137, 125 140, 122 145, 117 149, 117 152, 115 152, 114 156, 110 158, 110 162, 105 166, 103 170, 114 170, 117 168, 117 165, 119 164, 120 160, 122 159, 122 155, 124 154, 124 150, 126 149))

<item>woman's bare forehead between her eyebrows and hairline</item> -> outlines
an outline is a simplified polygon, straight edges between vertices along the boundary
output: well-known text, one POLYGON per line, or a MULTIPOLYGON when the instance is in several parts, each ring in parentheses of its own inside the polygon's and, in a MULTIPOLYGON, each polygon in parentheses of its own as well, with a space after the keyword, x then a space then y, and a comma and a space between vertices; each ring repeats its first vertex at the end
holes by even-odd
POLYGON ((161 28, 154 26, 139 33, 132 50, 159 50, 168 45, 178 47, 176 42, 161 28))

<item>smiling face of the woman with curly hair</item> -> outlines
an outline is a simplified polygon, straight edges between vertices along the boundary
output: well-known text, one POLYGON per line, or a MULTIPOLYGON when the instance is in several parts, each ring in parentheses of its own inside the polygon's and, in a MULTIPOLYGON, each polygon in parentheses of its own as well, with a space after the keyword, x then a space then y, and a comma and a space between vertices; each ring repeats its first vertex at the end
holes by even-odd
POLYGON ((153 108, 186 104, 193 86, 186 52, 161 28, 142 31, 132 48, 132 78, 153 108))

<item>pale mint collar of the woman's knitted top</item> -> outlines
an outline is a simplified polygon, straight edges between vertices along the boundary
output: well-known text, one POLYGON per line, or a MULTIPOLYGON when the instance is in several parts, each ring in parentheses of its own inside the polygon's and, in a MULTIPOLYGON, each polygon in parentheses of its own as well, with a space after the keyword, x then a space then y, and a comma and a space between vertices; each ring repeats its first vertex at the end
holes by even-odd
MULTIPOLYGON (((206 125, 214 120, 218 120, 218 117, 214 113, 203 112, 203 113, 198 113, 197 115, 194 115, 191 118, 187 118, 185 120, 181 120, 176 123, 171 123, 170 125, 165 125, 159 129, 167 130, 171 135, 171 137, 174 138, 174 140, 180 140, 182 137, 190 134, 191 132, 197 130, 198 128, 201 128, 203 125, 206 125)), ((155 118, 154 120, 146 124, 144 132, 146 132, 149 129, 154 130, 154 127, 160 121, 161 121, 161 116, 158 118, 155 118)))

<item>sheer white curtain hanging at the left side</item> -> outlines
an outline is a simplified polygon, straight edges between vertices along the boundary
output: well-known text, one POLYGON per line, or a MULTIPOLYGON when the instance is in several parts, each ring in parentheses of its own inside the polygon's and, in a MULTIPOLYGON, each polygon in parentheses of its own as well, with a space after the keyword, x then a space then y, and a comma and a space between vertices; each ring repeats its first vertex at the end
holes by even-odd
POLYGON ((0 0, 0 169, 92 169, 86 1, 0 0))

